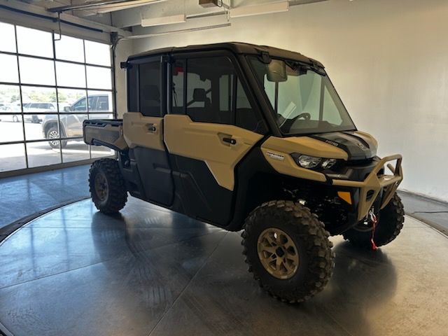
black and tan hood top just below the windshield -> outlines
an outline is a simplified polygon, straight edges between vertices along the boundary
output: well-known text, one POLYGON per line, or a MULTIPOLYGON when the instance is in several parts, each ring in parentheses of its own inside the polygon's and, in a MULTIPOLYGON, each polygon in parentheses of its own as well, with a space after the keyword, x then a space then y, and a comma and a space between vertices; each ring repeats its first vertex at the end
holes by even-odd
POLYGON ((370 134, 364 132, 330 132, 314 134, 309 137, 341 148, 349 155, 348 160, 366 160, 377 155, 377 141, 370 134))

